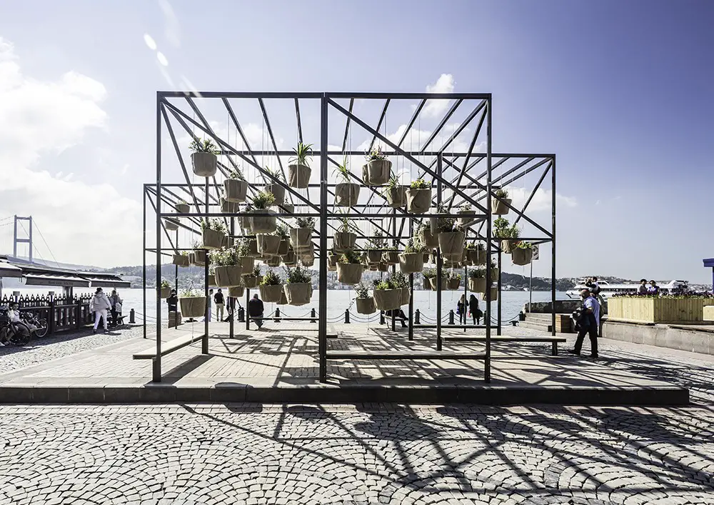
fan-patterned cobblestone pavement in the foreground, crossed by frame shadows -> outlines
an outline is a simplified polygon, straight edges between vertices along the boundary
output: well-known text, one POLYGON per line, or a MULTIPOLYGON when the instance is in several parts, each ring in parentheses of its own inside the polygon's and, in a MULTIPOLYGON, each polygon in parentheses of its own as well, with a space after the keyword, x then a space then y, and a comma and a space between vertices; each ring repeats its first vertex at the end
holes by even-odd
POLYGON ((714 411, 0 407, 0 504, 714 504, 714 411))

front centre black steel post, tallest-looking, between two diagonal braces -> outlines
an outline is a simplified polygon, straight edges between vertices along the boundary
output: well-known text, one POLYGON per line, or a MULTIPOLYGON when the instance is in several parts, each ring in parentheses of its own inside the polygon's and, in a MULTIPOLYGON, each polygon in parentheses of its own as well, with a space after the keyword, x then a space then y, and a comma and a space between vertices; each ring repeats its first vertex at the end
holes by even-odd
POLYGON ((318 351, 320 382, 327 382, 327 143, 328 97, 321 99, 320 121, 320 273, 318 351))

